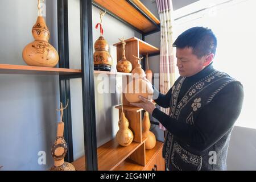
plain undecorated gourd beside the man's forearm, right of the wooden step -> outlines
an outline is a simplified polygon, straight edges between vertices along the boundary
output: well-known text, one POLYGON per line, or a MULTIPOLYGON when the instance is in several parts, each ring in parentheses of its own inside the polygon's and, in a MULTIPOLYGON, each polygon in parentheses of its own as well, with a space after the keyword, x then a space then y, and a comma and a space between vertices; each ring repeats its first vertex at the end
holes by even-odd
POLYGON ((152 131, 150 131, 150 119, 147 111, 144 113, 142 128, 143 128, 142 137, 147 138, 145 143, 146 149, 150 150, 155 147, 156 139, 155 139, 155 134, 152 133, 152 131))

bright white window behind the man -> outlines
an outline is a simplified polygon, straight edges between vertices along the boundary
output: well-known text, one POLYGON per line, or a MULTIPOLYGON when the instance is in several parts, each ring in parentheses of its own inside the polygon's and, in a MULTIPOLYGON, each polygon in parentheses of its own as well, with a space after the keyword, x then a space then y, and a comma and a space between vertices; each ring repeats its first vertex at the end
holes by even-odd
POLYGON ((174 40, 181 32, 195 26, 211 28, 216 34, 214 68, 241 81, 245 92, 235 125, 253 129, 256 129, 255 7, 255 0, 201 0, 174 11, 174 40))

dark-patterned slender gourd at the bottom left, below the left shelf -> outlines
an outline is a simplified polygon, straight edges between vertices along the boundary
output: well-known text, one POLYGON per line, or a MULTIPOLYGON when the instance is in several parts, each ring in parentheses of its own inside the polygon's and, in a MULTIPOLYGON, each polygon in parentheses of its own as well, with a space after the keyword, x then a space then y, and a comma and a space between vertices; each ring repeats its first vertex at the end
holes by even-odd
POLYGON ((63 133, 64 133, 64 122, 62 121, 63 118, 63 110, 68 107, 65 106, 63 108, 62 103, 60 102, 60 109, 57 109, 61 113, 60 122, 57 126, 57 137, 55 143, 52 146, 52 157, 54 159, 54 166, 50 169, 51 171, 75 171, 75 167, 68 162, 64 162, 65 155, 68 151, 67 142, 65 142, 63 133))

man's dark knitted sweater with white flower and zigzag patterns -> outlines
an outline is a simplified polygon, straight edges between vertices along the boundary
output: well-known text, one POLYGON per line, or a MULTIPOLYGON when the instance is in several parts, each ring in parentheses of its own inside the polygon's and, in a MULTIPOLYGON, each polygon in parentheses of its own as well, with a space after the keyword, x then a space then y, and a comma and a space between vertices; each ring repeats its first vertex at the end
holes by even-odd
POLYGON ((152 116, 167 129, 163 158, 170 170, 226 170, 233 125, 241 113, 243 86, 210 64, 179 77, 167 94, 154 88, 161 107, 152 116))

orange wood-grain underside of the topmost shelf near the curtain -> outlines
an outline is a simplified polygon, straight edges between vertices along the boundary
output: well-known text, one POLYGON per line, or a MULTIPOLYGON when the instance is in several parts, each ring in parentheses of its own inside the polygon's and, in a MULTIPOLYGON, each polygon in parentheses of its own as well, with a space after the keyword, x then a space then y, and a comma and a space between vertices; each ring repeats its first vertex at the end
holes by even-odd
MULTIPOLYGON (((94 2, 144 33, 156 30, 155 24, 139 13, 126 0, 94 0, 94 2)), ((146 7, 143 7, 142 11, 150 17, 154 16, 146 7)), ((159 20, 156 20, 156 23, 158 24, 159 20)))

